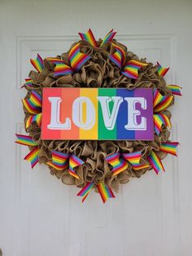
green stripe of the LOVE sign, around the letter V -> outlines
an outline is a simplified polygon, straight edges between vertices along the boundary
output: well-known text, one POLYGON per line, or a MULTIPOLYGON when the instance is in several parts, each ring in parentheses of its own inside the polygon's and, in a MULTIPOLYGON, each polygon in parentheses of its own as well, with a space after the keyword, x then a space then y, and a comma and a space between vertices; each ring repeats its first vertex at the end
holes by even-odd
MULTIPOLYGON (((116 89, 98 89, 98 96, 116 96, 116 89)), ((113 102, 109 103, 110 111, 113 108, 113 102)), ((103 121, 103 112, 101 108, 100 102, 98 102, 98 139, 116 139, 116 126, 114 126, 113 130, 107 130, 103 121)))

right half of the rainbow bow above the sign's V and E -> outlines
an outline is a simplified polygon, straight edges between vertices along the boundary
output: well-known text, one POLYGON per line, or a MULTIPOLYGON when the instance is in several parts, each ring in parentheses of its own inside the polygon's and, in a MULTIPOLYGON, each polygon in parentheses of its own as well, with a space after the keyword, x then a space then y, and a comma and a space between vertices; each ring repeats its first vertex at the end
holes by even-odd
POLYGON ((137 79, 138 78, 138 69, 147 66, 147 63, 142 63, 138 60, 129 60, 125 64, 123 71, 121 72, 125 77, 137 79))

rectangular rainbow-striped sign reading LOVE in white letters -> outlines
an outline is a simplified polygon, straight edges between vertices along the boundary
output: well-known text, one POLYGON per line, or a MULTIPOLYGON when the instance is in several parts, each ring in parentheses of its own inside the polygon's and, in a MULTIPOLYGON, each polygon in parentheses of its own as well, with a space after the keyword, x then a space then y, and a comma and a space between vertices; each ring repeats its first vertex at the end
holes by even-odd
POLYGON ((42 139, 153 140, 152 89, 44 88, 42 139))

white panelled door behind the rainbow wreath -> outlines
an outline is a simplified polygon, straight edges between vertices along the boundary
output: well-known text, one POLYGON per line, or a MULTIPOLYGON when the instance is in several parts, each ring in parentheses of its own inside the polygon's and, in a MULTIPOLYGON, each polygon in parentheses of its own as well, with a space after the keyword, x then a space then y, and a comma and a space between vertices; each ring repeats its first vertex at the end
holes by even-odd
POLYGON ((0 248, 3 256, 192 255, 192 2, 0 1, 0 248), (166 172, 150 171, 122 185, 103 205, 91 192, 63 185, 46 166, 30 169, 28 149, 14 143, 24 133, 20 86, 42 57, 67 51, 89 27, 96 38, 114 28, 130 51, 170 66, 168 83, 183 87, 172 108, 172 139, 179 157, 166 172))

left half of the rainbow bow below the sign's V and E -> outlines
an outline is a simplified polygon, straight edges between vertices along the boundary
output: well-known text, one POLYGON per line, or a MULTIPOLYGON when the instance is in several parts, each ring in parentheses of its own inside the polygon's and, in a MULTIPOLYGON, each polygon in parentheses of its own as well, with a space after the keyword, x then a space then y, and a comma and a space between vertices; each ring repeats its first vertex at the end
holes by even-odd
POLYGON ((105 158, 105 160, 113 167, 112 176, 120 174, 120 172, 128 169, 128 162, 120 158, 120 153, 114 153, 105 158))

